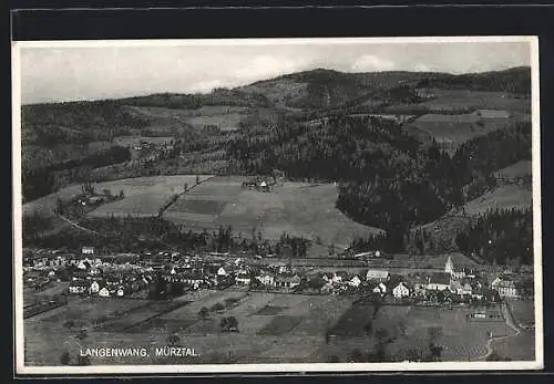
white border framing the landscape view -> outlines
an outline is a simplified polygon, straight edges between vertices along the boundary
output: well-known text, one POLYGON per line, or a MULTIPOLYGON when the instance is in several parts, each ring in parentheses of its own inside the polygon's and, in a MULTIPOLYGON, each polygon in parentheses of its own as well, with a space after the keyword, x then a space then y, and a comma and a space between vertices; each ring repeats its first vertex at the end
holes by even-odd
POLYGON ((25 41, 12 42, 12 160, 13 196, 21 196, 21 48, 100 48, 100 46, 185 46, 185 45, 279 45, 279 44, 376 44, 376 43, 456 43, 456 42, 529 42, 532 68, 532 172, 533 172, 533 247, 535 284, 535 361, 525 362, 440 362, 440 363, 309 363, 309 364, 191 364, 191 365, 94 365, 94 366, 24 366, 22 293, 22 201, 13 199, 13 273, 16 374, 152 374, 152 373, 299 373, 299 372, 394 372, 394 371, 492 371, 542 370, 543 284, 541 227, 541 132, 538 104, 537 37, 441 37, 441 38, 316 38, 316 39, 206 39, 206 40, 94 40, 94 41, 25 41))

